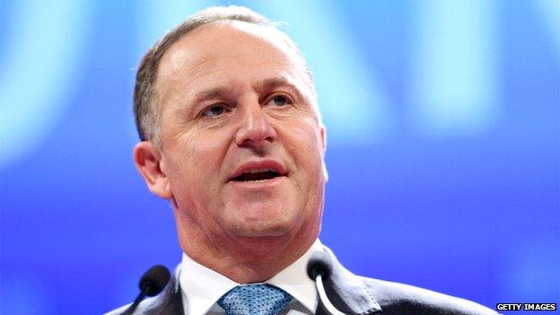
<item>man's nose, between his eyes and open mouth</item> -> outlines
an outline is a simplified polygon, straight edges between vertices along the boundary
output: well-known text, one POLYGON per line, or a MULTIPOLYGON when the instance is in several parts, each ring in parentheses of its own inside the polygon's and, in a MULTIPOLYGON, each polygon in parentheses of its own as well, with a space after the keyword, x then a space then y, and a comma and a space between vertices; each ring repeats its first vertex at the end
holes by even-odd
POLYGON ((262 148, 276 140, 276 130, 270 124, 270 118, 258 103, 258 99, 246 100, 240 104, 241 124, 235 134, 235 142, 240 146, 262 148))

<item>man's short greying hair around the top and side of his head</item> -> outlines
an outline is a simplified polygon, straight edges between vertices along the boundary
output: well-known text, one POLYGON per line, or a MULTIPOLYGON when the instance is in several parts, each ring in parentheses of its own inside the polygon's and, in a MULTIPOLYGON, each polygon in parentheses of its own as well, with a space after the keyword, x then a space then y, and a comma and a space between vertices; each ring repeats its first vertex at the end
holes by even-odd
MULTIPOLYGON (((242 6, 215 6, 199 11, 193 15, 188 16, 185 22, 179 24, 171 31, 169 31, 162 39, 156 42, 152 48, 149 48, 140 66, 136 72, 136 85, 134 91, 134 114, 136 119, 136 129, 138 135, 143 141, 153 141, 154 144, 160 145, 160 118, 161 118, 161 104, 157 99, 157 92, 155 91, 155 83, 157 78, 157 71, 160 61, 162 60, 165 52, 177 42, 183 35, 198 27, 219 21, 241 21, 248 22, 263 27, 271 28, 277 31, 286 41, 286 43, 293 48, 296 55, 302 59, 302 65, 305 72, 309 75, 311 92, 315 98, 315 88, 313 85, 313 78, 311 71, 305 66, 305 59, 301 51, 297 48, 293 40, 290 39, 283 31, 276 28, 276 24, 267 20, 266 17, 260 15, 249 8, 242 6)), ((319 110, 318 110, 319 112, 319 110)))

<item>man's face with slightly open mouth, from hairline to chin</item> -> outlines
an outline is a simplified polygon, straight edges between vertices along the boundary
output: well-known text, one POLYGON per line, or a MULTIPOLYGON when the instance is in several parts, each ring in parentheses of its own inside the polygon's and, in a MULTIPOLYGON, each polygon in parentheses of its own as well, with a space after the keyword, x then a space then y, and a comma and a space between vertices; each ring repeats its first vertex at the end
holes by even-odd
POLYGON ((314 240, 325 131, 293 50, 266 28, 215 22, 179 39, 158 71, 160 167, 179 239, 314 240))

